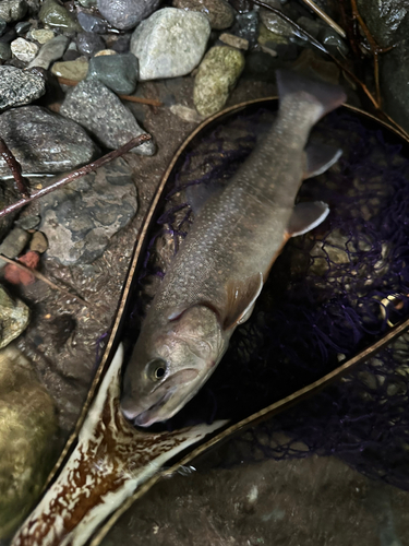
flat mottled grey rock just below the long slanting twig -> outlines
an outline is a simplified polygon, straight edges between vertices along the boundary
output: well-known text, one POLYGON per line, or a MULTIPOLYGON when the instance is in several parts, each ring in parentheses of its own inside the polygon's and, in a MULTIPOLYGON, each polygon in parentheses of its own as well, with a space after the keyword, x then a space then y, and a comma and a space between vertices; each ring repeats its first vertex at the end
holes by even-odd
POLYGON ((89 263, 136 213, 132 171, 122 158, 116 159, 46 195, 40 206, 47 256, 64 265, 89 263))

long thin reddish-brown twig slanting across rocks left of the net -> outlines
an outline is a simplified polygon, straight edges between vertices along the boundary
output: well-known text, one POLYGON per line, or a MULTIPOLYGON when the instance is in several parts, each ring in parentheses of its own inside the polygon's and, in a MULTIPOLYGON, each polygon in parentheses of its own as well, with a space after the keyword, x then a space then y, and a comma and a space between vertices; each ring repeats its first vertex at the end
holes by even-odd
POLYGON ((110 163, 111 161, 116 159, 117 157, 121 157, 123 154, 132 150, 133 147, 140 146, 144 142, 151 140, 152 136, 149 134, 141 134, 140 136, 136 136, 135 139, 132 139, 130 142, 124 144, 123 146, 119 147, 118 150, 115 150, 113 152, 109 152, 109 154, 104 155, 99 159, 88 163, 88 165, 85 165, 84 167, 80 167, 76 170, 73 170, 72 173, 69 173, 68 175, 64 175, 63 177, 59 178, 55 182, 52 182, 50 186, 47 188, 41 188, 38 191, 34 191, 31 197, 21 199, 16 203, 13 203, 9 206, 5 206, 3 210, 0 211, 0 218, 3 216, 7 216, 11 212, 17 211, 22 206, 31 203, 32 201, 35 201, 36 199, 41 198, 43 195, 47 195, 48 193, 51 193, 52 191, 56 191, 63 186, 65 186, 69 182, 72 182, 73 180, 76 180, 77 178, 81 178, 85 175, 88 175, 89 173, 93 173, 94 170, 98 169, 99 167, 103 167, 107 163, 110 163))

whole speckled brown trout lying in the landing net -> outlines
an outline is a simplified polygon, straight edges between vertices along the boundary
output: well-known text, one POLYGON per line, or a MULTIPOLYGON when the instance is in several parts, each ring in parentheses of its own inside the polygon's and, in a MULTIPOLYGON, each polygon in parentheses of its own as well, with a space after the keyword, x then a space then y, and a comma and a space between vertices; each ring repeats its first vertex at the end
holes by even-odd
POLYGON ((121 410, 135 426, 177 414, 202 388, 254 308, 290 237, 320 225, 323 202, 294 204, 302 181, 341 150, 308 144, 313 126, 346 100, 340 86, 277 71, 279 109, 225 183, 187 190, 194 222, 152 301, 125 366, 121 410))

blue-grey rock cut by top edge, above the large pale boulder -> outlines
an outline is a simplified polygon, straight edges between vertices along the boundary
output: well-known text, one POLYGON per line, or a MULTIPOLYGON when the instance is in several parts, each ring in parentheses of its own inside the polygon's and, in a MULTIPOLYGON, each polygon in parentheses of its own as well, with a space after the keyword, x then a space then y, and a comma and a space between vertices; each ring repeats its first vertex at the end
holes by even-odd
POLYGON ((148 17, 160 0, 98 0, 98 10, 116 28, 128 31, 148 17))

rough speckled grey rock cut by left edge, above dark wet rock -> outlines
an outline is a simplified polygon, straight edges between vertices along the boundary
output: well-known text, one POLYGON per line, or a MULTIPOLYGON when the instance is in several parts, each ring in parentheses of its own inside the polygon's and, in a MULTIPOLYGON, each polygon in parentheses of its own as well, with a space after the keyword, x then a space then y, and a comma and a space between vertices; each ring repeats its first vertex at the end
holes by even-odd
POLYGON ((46 93, 44 79, 15 67, 0 67, 0 111, 32 103, 46 93))

